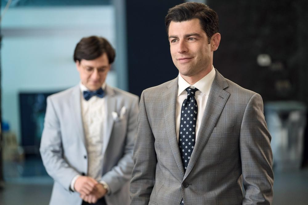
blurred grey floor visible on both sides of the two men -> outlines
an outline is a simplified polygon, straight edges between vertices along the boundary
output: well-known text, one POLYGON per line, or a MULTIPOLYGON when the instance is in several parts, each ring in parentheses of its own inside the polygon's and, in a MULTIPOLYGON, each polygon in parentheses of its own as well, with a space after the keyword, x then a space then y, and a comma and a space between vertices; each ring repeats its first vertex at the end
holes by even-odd
MULTIPOLYGON (((48 204, 53 181, 43 170, 41 161, 31 159, 22 165, 4 165, 6 182, 2 188, 0 185, 1 205, 48 204)), ((274 205, 308 204, 308 168, 276 171, 274 180, 274 205)))

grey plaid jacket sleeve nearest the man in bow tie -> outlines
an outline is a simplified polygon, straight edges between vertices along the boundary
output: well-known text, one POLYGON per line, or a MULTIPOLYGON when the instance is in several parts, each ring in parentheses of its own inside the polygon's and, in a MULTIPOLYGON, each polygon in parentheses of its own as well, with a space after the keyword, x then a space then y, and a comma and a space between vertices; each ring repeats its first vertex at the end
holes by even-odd
POLYGON ((149 124, 144 92, 139 104, 137 140, 134 149, 134 169, 130 185, 131 204, 148 204, 155 183, 156 152, 154 135, 149 124))

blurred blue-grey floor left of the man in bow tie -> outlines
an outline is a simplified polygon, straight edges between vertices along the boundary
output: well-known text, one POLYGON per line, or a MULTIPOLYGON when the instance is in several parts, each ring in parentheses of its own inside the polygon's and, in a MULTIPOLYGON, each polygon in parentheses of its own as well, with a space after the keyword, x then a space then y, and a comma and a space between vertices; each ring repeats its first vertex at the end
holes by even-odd
POLYGON ((48 176, 39 155, 26 160, 4 160, 5 183, 0 184, 0 205, 48 204, 53 179, 48 176))

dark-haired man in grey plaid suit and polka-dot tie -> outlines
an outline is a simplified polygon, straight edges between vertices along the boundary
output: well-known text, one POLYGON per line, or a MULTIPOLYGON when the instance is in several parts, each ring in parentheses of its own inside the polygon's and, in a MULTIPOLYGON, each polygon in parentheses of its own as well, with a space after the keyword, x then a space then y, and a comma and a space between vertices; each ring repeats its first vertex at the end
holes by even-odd
POLYGON ((171 8, 165 24, 179 75, 141 94, 131 204, 271 204, 262 98, 213 67, 216 12, 187 2, 171 8))

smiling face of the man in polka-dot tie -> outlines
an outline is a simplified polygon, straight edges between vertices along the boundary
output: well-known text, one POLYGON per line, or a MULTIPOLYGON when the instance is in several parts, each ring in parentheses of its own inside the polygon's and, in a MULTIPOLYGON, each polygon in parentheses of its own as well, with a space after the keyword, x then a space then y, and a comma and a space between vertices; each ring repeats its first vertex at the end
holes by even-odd
POLYGON ((201 79, 211 71, 215 46, 212 41, 209 44, 199 19, 171 21, 168 37, 172 61, 184 79, 185 76, 201 79))

